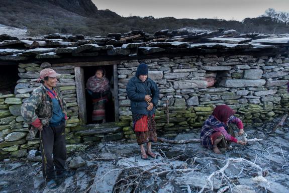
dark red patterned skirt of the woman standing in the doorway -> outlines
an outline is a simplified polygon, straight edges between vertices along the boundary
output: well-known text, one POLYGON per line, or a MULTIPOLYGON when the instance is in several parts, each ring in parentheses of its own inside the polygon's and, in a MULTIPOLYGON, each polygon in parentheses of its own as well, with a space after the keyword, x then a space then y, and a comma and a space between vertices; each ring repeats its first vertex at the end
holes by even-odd
POLYGON ((101 121, 106 118, 106 102, 106 97, 92 100, 92 121, 101 121))

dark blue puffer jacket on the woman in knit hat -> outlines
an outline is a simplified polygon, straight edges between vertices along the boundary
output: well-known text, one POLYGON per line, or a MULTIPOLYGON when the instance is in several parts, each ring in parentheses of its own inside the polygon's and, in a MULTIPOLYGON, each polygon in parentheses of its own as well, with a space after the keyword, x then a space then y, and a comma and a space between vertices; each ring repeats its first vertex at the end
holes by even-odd
POLYGON ((131 100, 131 110, 133 114, 142 114, 152 116, 155 113, 155 109, 159 100, 159 89, 156 83, 147 78, 142 82, 138 77, 131 78, 127 85, 127 96, 131 100), (153 109, 147 110, 148 104, 144 100, 145 95, 151 95, 153 109))

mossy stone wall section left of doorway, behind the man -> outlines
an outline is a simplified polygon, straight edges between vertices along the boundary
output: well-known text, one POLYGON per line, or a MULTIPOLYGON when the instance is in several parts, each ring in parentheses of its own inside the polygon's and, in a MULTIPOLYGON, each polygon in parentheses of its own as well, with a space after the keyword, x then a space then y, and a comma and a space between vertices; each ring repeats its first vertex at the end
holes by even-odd
POLYGON ((74 137, 70 132, 79 125, 78 107, 76 103, 76 86, 74 80, 74 66, 51 67, 49 63, 19 64, 19 79, 15 86, 15 94, 0 96, 0 148, 2 156, 23 157, 27 150, 37 149, 39 139, 30 139, 28 124, 21 116, 21 105, 32 91, 41 85, 37 82, 39 72, 44 68, 52 68, 60 73, 57 86, 61 90, 67 103, 67 116, 65 132, 67 144, 78 143, 79 137, 74 137))

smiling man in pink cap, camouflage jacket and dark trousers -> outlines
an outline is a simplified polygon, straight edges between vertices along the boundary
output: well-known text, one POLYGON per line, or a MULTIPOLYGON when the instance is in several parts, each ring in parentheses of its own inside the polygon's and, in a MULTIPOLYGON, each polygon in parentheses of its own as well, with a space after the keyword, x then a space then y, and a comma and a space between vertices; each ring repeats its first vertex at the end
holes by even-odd
POLYGON ((48 188, 58 185, 55 178, 74 174, 65 169, 65 120, 67 116, 66 103, 56 88, 59 75, 50 68, 41 70, 39 81, 43 84, 33 90, 32 95, 21 108, 22 117, 31 129, 39 131, 42 173, 48 188))

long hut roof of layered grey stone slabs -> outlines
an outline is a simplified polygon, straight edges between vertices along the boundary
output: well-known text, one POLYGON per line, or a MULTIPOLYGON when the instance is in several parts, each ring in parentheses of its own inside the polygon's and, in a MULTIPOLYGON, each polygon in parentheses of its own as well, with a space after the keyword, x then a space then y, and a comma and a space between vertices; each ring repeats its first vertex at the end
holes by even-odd
POLYGON ((25 61, 71 57, 121 56, 137 57, 152 54, 201 53, 215 54, 238 51, 248 52, 289 51, 289 37, 271 37, 250 33, 238 34, 224 29, 216 31, 188 32, 187 30, 161 30, 154 35, 141 30, 125 34, 85 37, 50 34, 40 39, 15 40, 3 36, 0 40, 0 60, 25 61), (273 49, 272 49, 273 48, 273 49), (284 49, 285 48, 285 49, 284 49), (272 51, 273 50, 273 51, 272 51))

